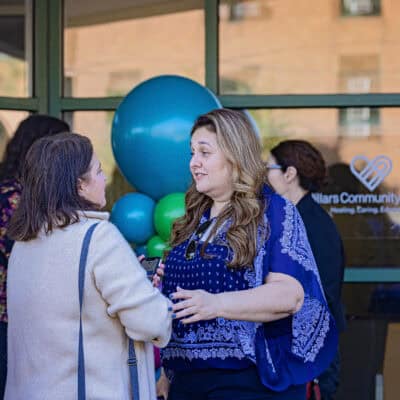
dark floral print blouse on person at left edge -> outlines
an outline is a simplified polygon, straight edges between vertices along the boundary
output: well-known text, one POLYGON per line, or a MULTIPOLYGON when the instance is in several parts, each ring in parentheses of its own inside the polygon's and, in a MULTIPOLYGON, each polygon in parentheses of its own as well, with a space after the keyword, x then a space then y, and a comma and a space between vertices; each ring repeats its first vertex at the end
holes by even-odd
POLYGON ((21 185, 15 179, 0 183, 0 322, 7 322, 7 265, 14 242, 7 237, 7 226, 21 197, 21 185))

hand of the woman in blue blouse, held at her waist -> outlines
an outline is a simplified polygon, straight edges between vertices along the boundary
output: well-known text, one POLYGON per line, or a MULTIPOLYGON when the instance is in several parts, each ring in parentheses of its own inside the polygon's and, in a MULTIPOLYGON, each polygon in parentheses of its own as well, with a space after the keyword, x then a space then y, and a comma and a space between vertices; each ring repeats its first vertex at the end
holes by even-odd
POLYGON ((214 319, 219 316, 216 295, 205 290, 184 290, 177 287, 172 293, 172 300, 180 300, 172 307, 172 316, 181 319, 183 324, 214 319))

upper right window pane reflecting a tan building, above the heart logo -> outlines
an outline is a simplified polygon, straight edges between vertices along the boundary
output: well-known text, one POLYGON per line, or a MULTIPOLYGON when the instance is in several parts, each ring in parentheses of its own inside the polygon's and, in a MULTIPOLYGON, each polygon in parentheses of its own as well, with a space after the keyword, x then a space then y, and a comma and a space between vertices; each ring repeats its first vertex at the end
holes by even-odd
POLYGON ((400 92, 398 1, 221 0, 220 93, 400 92))

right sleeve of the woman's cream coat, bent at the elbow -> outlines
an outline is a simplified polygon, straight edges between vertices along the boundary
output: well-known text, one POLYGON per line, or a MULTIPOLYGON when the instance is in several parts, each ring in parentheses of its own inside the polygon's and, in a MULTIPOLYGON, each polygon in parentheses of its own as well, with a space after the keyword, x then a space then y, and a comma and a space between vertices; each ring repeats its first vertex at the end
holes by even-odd
POLYGON ((129 337, 167 345, 171 335, 170 301, 152 286, 135 253, 118 229, 101 222, 91 240, 88 268, 111 317, 129 337))

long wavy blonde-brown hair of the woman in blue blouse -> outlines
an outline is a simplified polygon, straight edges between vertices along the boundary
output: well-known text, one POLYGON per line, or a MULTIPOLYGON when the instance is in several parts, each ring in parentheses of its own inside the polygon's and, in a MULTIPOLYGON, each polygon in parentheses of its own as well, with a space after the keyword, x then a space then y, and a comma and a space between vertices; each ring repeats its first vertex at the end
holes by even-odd
MULTIPOLYGON (((246 115, 240 111, 217 109, 201 115, 194 123, 191 135, 202 127, 216 134, 217 143, 233 171, 230 204, 218 215, 209 237, 213 237, 228 218, 231 219, 226 236, 233 251, 233 259, 228 266, 252 266, 257 251, 257 229, 263 221, 265 209, 261 191, 266 169, 261 159, 260 141, 246 115)), ((186 192, 185 203, 185 215, 173 225, 172 246, 184 242, 192 235, 213 200, 199 193, 192 181, 186 192)), ((202 246, 202 255, 207 243, 208 240, 202 246)))

